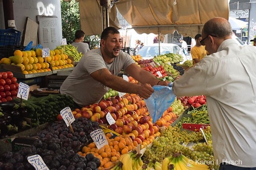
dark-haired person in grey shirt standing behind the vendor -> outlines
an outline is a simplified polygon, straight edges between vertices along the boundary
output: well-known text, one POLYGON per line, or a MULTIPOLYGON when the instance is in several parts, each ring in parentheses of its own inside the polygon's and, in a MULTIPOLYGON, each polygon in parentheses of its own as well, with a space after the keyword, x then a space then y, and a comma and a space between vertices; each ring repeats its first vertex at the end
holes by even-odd
POLYGON ((75 41, 71 44, 72 46, 77 47, 78 53, 82 54, 85 54, 90 50, 89 45, 83 42, 84 35, 82 30, 75 31, 75 41))

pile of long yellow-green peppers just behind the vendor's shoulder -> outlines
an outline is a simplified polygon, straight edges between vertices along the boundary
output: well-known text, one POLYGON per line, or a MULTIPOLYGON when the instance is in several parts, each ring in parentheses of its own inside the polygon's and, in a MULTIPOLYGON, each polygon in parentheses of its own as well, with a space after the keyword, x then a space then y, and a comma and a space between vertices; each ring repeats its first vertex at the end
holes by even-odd
POLYGON ((79 62, 81 57, 83 56, 82 53, 78 53, 77 48, 68 44, 68 45, 61 45, 57 46, 55 49, 61 49, 63 50, 64 54, 73 57, 75 62, 79 62))

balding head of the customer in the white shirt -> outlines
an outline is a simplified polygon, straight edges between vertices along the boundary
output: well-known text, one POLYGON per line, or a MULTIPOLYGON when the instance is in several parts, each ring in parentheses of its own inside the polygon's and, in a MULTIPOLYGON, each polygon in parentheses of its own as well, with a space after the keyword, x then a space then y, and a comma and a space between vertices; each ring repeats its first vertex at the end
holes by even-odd
POLYGON ((232 39, 232 28, 229 21, 222 17, 210 19, 204 24, 202 38, 208 53, 216 53, 223 41, 232 39))

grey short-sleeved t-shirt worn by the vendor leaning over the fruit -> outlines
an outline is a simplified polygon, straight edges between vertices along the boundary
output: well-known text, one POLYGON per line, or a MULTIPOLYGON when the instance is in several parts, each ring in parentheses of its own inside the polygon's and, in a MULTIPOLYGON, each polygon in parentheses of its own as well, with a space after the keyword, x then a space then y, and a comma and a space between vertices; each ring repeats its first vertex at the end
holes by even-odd
POLYGON ((119 56, 111 64, 105 63, 100 48, 88 51, 79 61, 72 73, 60 87, 60 93, 68 94, 80 106, 87 106, 99 102, 109 87, 94 80, 90 74, 107 68, 113 75, 118 75, 134 63, 131 56, 120 51, 119 56))

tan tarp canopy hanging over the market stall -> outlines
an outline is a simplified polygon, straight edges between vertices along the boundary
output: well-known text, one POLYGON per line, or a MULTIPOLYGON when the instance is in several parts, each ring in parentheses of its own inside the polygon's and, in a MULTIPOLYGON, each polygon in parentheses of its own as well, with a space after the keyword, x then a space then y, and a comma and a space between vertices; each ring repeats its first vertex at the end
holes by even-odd
MULTIPOLYGON (((87 35, 101 34, 99 0, 79 2, 82 30, 87 35)), ((112 13, 116 12, 115 8, 139 34, 167 34, 177 30, 183 36, 194 37, 201 33, 209 19, 216 16, 229 18, 229 0, 119 0, 109 15, 112 26, 117 23, 116 14, 112 13)))

